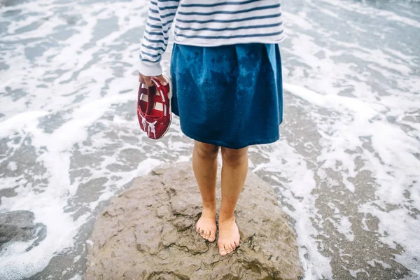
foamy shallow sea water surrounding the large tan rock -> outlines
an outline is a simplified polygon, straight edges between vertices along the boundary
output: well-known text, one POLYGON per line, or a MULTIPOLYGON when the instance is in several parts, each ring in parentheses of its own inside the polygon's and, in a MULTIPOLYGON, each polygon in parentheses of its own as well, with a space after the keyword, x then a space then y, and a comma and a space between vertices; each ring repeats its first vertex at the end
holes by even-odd
MULTIPOLYGON (((283 11, 281 139, 249 163, 290 216, 304 279, 420 279, 420 3, 283 11)), ((0 213, 45 228, 0 248, 0 279, 81 279, 109 199, 190 160, 178 118, 162 141, 139 131, 146 15, 144 0, 0 0, 0 213)))

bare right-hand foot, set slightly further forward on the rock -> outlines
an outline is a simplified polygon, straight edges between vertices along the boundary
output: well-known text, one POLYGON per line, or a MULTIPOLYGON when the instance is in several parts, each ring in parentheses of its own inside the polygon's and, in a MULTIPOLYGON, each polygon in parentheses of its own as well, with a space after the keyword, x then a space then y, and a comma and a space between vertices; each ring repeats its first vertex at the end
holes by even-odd
POLYGON ((239 246, 239 230, 235 222, 235 217, 222 219, 219 218, 219 236, 218 236, 218 247, 221 255, 227 255, 239 246))

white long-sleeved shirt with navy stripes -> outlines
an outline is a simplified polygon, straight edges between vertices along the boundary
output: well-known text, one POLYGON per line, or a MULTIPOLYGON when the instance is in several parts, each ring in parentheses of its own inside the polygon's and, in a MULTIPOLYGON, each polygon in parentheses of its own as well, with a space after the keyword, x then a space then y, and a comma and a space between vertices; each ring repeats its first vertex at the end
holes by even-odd
POLYGON ((217 46, 279 43, 283 39, 280 0, 151 0, 141 42, 139 72, 162 73, 160 60, 174 23, 174 42, 217 46))

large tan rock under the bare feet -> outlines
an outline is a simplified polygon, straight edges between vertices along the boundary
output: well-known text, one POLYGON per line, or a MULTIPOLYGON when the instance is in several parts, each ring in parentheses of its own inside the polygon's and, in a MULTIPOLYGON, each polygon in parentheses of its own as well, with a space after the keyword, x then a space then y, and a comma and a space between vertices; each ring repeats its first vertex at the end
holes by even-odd
MULTIPOLYGON (((219 183, 218 209, 220 193, 219 183)), ((200 191, 190 162, 158 167, 136 179, 99 214, 85 279, 302 277, 287 216, 274 190, 252 172, 237 204, 241 241, 234 253, 219 255, 217 235, 210 243, 195 232, 200 214, 200 191)))

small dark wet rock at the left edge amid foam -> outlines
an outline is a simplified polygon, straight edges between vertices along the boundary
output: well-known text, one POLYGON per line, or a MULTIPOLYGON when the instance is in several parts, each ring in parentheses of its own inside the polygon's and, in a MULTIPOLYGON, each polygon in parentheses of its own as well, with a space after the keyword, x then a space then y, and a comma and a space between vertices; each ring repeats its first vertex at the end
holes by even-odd
POLYGON ((10 211, 0 214, 0 251, 8 242, 36 239, 26 251, 37 246, 47 236, 42 223, 34 224, 34 214, 30 211, 10 211))

